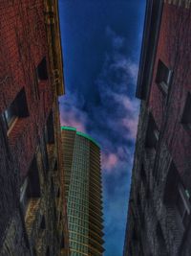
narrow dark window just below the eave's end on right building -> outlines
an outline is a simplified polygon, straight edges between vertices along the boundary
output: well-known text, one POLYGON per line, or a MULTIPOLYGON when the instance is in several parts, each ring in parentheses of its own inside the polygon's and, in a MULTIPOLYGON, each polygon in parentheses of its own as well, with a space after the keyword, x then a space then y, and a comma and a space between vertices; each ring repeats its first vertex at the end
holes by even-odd
POLYGON ((156 122, 152 114, 150 113, 147 132, 146 132, 145 147, 148 149, 157 149, 158 141, 159 141, 159 129, 156 125, 156 122))

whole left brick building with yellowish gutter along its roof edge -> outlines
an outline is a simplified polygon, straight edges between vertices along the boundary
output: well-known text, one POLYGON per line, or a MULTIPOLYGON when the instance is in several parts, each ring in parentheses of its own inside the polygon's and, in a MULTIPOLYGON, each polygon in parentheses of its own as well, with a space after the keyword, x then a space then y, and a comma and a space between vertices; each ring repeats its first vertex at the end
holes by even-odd
POLYGON ((2 0, 0 12, 0 255, 69 255, 57 0, 2 0))

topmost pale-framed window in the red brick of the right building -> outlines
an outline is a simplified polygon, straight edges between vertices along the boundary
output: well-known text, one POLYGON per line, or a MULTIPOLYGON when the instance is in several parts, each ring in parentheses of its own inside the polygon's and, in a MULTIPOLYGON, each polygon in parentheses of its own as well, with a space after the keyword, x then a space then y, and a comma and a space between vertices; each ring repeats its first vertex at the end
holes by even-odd
POLYGON ((160 88, 164 93, 168 92, 168 87, 172 78, 172 70, 169 69, 160 59, 158 62, 158 71, 156 82, 159 84, 160 88))

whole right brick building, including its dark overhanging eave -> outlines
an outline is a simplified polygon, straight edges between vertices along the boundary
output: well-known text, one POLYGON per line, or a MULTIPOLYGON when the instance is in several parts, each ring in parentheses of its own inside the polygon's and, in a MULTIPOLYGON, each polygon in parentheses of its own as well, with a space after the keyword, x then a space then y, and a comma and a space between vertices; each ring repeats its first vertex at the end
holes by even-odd
POLYGON ((191 1, 148 0, 124 256, 191 251, 191 1))

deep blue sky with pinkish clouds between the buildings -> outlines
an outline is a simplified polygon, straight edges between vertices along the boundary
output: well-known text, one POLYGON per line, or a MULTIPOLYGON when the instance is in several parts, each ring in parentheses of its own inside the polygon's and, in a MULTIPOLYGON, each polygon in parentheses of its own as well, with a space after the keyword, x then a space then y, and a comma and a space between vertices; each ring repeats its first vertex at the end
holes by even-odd
POLYGON ((145 0, 59 0, 66 95, 62 126, 101 146, 104 256, 122 256, 138 126, 145 0))

